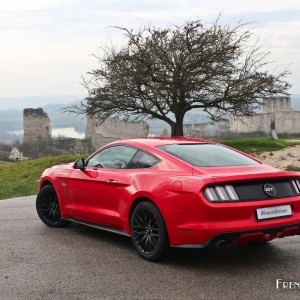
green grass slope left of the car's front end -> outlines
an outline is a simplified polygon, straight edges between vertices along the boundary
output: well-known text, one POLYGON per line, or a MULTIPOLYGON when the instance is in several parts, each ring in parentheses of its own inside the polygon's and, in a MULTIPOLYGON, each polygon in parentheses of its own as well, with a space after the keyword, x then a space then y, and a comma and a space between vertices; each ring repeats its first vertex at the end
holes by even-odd
POLYGON ((37 194, 46 168, 75 161, 79 156, 52 156, 24 162, 0 164, 0 200, 37 194))

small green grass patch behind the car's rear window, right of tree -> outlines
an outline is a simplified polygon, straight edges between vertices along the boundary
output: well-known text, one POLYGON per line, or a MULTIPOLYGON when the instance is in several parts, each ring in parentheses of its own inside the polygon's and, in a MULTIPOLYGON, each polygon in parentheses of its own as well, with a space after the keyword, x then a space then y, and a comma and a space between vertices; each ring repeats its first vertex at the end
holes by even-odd
POLYGON ((277 151, 295 145, 294 143, 287 142, 286 140, 275 140, 270 137, 225 140, 221 143, 249 154, 277 151))

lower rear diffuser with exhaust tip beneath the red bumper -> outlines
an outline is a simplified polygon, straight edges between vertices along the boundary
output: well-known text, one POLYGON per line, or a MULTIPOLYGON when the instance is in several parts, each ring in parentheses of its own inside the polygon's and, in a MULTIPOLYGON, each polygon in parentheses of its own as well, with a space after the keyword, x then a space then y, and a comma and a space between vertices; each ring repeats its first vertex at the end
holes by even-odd
POLYGON ((181 244, 174 247, 180 248, 205 248, 209 246, 223 247, 231 244, 247 245, 249 243, 260 243, 271 241, 276 238, 300 235, 300 223, 272 228, 262 228, 259 230, 246 230, 236 232, 224 232, 215 235, 204 244, 181 244))

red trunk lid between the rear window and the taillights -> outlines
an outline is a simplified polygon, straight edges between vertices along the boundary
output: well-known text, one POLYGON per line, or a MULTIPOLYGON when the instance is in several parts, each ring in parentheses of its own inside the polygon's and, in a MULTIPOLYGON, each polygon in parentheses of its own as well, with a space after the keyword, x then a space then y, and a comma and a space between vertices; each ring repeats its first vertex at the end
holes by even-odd
POLYGON ((281 171, 266 164, 255 166, 194 167, 193 175, 210 177, 215 182, 300 177, 299 172, 281 171))

